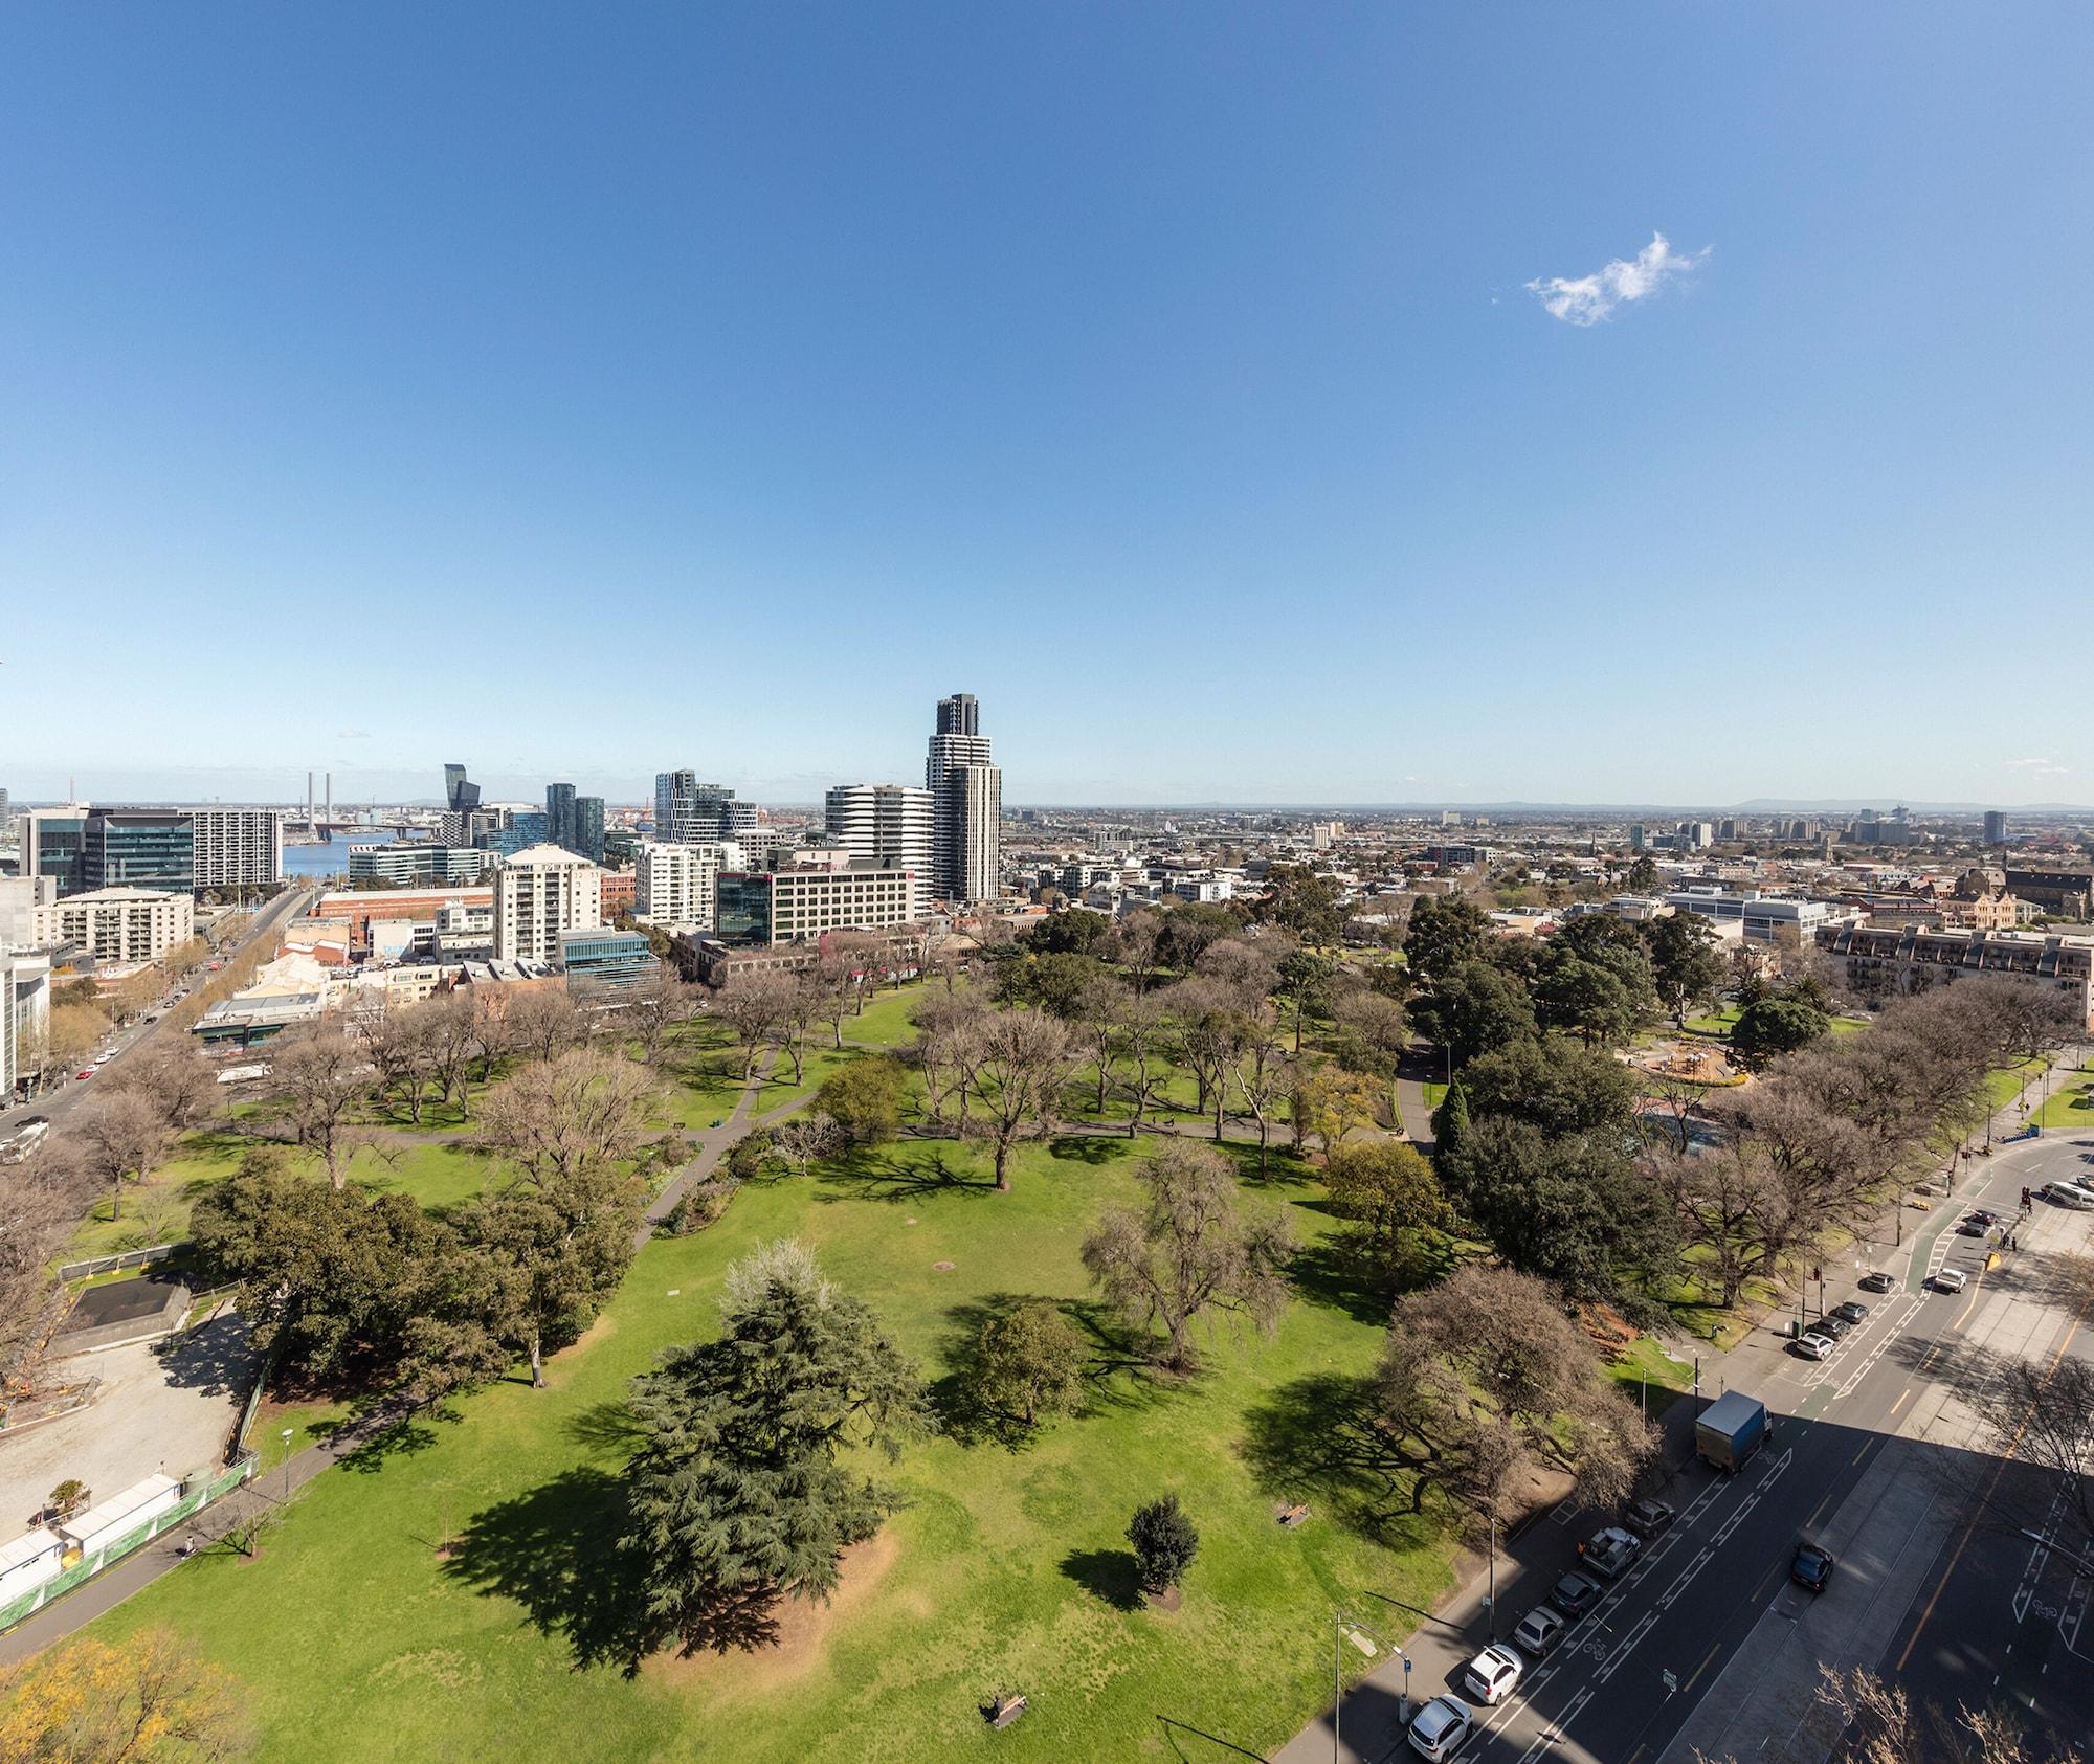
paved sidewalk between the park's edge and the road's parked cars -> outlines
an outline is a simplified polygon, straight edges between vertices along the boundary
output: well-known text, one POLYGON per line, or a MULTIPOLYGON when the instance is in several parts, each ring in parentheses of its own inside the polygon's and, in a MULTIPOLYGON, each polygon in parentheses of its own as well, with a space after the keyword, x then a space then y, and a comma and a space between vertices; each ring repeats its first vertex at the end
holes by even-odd
MULTIPOLYGON (((2071 1064, 2077 1054, 2077 1048, 2063 1050, 2058 1064, 2071 1064)), ((2025 1083, 2021 1092, 1993 1110, 1991 1131, 1996 1138, 2019 1129, 2021 1098, 2040 1081, 2042 1075, 2025 1083)), ((1979 1127, 1973 1144, 1983 1142, 1983 1127, 1979 1127)), ((1958 1159, 1956 1186, 1966 1182, 1983 1184, 1989 1182, 1989 1159, 1973 1156, 1966 1167, 1958 1159)), ((1924 1217, 1933 1219, 1935 1213, 1924 1217)), ((1887 1209, 1880 1219, 1872 1221, 1870 1234, 1857 1234, 1855 1244, 1889 1249, 1891 1238, 1897 1234, 1895 1219, 1897 1211, 1887 1209)), ((1924 1230, 1924 1226, 1916 1230, 1924 1230)), ((1906 1232, 1903 1236, 1910 1242, 1914 1232, 1906 1232)), ((1859 1257, 1857 1267, 1862 1267, 1859 1257)), ((1841 1297, 1847 1297, 1847 1284, 1849 1280, 1841 1278, 1839 1293, 1834 1295, 1830 1291, 1834 1282, 1828 1280, 1826 1301, 1836 1303, 1841 1297)), ((1757 1389, 1765 1360, 1769 1355, 1784 1358, 1786 1353, 1786 1311, 1769 1314, 1757 1320, 1734 1347, 1723 1351, 1713 1343, 1692 1341, 1669 1343, 1669 1351, 1698 1353, 1702 1395, 1717 1395, 1732 1385, 1757 1389)), ((1688 1395, 1673 1402, 1661 1418, 1665 1433, 1661 1456, 1667 1469, 1667 1485, 1694 1460, 1694 1420, 1698 1412, 1700 1404, 1688 1395)), ((1667 1494, 1667 1485, 1656 1490, 1661 1498, 1667 1494)), ((1508 1634, 1524 1611, 1543 1601, 1564 1569, 1577 1565, 1577 1540, 1610 1519, 1612 1515, 1587 1513, 1564 1504, 1529 1517, 1512 1534, 1499 1538, 1495 1626, 1499 1636, 1508 1634)), ((1924 1515, 1916 1515, 1912 1523, 1914 1527, 1922 1525, 1924 1515)), ((1344 1615, 1382 1645, 1384 1661, 1344 1693, 1338 1710, 1340 1745, 1336 1749, 1332 1747, 1334 1712, 1326 1707, 1323 1714, 1273 1754, 1273 1764, 1326 1764, 1330 1758, 1340 1760, 1340 1764, 1384 1764, 1397 1754, 1403 1743, 1405 1689, 1405 1661, 1395 1651, 1397 1642, 1401 1640, 1403 1651, 1409 1655, 1409 1707, 1416 1712, 1428 1697, 1453 1689, 1462 1666, 1491 1638, 1489 1565, 1480 1554, 1468 1552, 1457 1559, 1457 1573, 1464 1569, 1466 1580, 1432 1611, 1395 1605, 1372 1592, 1351 1594, 1344 1615)), ((1353 1663, 1357 1663, 1357 1657, 1353 1663)), ((1455 1691, 1455 1695, 1464 1693, 1455 1691)))

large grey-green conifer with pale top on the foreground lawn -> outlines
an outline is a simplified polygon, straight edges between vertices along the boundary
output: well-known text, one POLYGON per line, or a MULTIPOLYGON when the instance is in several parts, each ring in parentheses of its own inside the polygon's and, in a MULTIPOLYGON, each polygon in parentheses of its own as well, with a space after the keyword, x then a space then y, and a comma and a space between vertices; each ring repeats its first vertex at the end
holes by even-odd
POLYGON ((754 1647, 781 1596, 827 1598, 844 1550, 898 1504, 840 1454, 892 1458, 930 1427, 915 1368, 798 1242, 737 1261, 720 1311, 718 1341, 632 1381, 647 1443, 626 1471, 624 1546, 655 1638, 683 1653, 754 1647))

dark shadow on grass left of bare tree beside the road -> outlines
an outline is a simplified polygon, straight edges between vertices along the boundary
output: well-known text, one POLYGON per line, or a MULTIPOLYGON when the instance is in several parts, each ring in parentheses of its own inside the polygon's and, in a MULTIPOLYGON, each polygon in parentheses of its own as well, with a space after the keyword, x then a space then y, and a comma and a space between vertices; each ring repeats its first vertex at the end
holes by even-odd
POLYGON ((1244 1416, 1238 1452, 1275 1500, 1307 1502, 1380 1542, 1426 1536, 1432 1467, 1380 1423, 1374 1379, 1311 1372, 1282 1385, 1244 1416))

